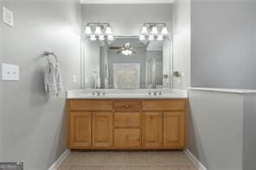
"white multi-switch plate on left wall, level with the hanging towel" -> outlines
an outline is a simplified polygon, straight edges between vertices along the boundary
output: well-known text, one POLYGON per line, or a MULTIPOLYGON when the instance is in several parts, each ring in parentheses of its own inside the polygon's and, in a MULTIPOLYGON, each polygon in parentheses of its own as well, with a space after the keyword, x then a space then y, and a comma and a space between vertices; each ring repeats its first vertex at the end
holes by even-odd
POLYGON ((2 80, 19 81, 20 66, 2 63, 2 80))

